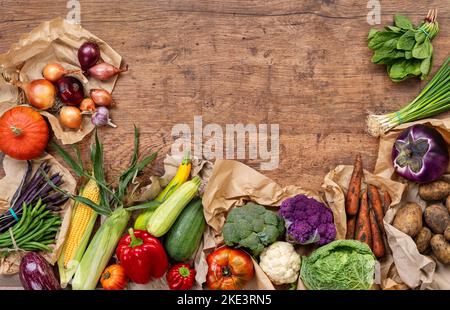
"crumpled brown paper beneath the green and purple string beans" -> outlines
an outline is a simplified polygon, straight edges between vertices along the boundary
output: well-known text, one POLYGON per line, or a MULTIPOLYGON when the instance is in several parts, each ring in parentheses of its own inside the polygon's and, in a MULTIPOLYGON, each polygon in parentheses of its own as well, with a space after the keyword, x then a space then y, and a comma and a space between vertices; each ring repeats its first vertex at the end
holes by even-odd
MULTIPOLYGON (((47 161, 51 164, 52 173, 59 172, 63 176, 64 184, 61 186, 63 189, 70 193, 75 192, 76 181, 70 172, 56 161, 49 154, 44 154, 39 159, 33 160, 33 172, 36 171, 37 167, 42 161, 47 161)), ((0 180, 0 213, 6 212, 9 208, 9 201, 16 192, 22 176, 25 173, 27 164, 26 161, 19 161, 5 156, 3 159, 3 169, 5 171, 5 177, 0 180)), ((59 256, 62 249, 62 244, 66 238, 66 233, 69 229, 70 216, 72 213, 72 200, 68 200, 64 205, 61 206, 62 210, 60 215, 63 218, 63 222, 56 236, 56 244, 53 247, 52 253, 45 253, 44 257, 51 264, 54 264, 59 256)), ((7 257, 0 258, 0 274, 11 275, 19 271, 20 256, 21 253, 11 252, 7 257)))

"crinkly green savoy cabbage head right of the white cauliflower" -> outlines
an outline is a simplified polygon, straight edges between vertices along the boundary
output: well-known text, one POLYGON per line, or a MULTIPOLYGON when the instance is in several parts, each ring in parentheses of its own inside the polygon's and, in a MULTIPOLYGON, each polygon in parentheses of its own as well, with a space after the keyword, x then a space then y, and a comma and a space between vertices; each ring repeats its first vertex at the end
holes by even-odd
POLYGON ((375 275, 375 256, 356 240, 336 240, 302 260, 300 277, 310 290, 368 290, 375 275))

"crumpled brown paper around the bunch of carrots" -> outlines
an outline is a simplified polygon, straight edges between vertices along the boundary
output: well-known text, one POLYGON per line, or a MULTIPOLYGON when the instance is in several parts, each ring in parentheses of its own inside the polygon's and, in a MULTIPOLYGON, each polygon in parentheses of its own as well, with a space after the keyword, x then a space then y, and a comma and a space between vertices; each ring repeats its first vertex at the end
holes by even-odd
MULTIPOLYGON (((338 210, 338 220, 342 223, 347 223, 347 216, 345 214, 345 196, 348 191, 348 184, 350 182, 352 172, 353 166, 337 166, 325 176, 324 183, 322 185, 325 192, 326 201, 331 208, 338 210)), ((361 186, 362 190, 366 189, 366 184, 375 185, 381 191, 387 191, 390 194, 392 199, 390 210, 392 210, 392 207, 397 206, 400 203, 406 188, 406 186, 402 183, 374 175, 367 170, 364 170, 364 181, 361 186)), ((386 232, 388 232, 390 221, 387 221, 386 217, 384 218, 384 226, 386 232)), ((340 229, 342 229, 340 234, 345 236, 347 226, 341 226, 340 229)), ((388 253, 386 257, 380 261, 380 271, 379 274, 377 274, 377 277, 380 277, 377 282, 379 282, 378 284, 380 284, 382 289, 394 289, 396 286, 401 286, 401 282, 399 283, 395 281, 395 274, 396 269, 395 266, 393 266, 393 258, 392 255, 388 253)))

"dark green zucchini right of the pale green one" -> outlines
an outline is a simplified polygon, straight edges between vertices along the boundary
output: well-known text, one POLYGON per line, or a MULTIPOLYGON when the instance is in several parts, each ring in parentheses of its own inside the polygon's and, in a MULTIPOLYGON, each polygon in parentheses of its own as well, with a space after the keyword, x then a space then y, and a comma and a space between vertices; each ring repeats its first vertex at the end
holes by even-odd
POLYGON ((187 261, 197 250, 205 230, 202 200, 192 200, 167 233, 166 252, 177 262, 187 261))

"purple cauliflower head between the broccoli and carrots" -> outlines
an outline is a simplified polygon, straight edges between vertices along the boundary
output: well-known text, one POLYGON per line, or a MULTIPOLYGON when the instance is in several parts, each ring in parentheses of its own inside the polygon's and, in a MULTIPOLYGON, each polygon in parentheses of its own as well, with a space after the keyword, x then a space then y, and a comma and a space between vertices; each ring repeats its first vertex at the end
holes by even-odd
POLYGON ((281 203, 287 240, 291 243, 324 245, 336 238, 333 213, 324 204, 305 195, 288 198, 281 203))

